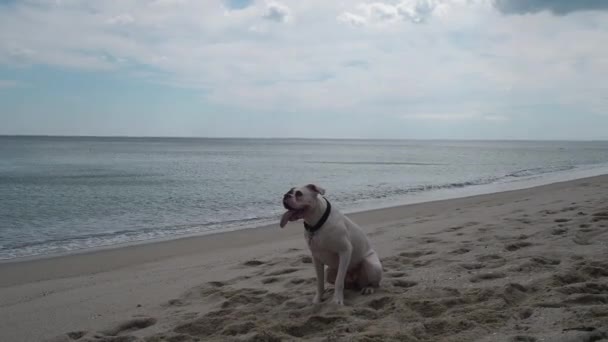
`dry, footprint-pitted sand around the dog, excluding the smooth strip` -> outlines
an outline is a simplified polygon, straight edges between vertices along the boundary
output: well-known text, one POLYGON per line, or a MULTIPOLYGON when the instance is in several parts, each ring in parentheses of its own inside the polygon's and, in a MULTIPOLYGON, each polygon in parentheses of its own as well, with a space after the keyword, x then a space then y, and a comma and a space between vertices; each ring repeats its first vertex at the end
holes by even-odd
POLYGON ((607 181, 362 214, 386 272, 344 307, 331 289, 311 304, 311 260, 293 240, 148 313, 52 340, 608 341, 607 181))

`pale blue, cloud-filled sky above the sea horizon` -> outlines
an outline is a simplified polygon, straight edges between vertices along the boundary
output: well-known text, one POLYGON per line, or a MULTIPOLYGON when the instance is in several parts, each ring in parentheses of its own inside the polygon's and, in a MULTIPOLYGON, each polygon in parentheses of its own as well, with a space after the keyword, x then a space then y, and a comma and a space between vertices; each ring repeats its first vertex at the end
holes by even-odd
POLYGON ((0 134, 608 139, 605 0, 0 0, 0 134))

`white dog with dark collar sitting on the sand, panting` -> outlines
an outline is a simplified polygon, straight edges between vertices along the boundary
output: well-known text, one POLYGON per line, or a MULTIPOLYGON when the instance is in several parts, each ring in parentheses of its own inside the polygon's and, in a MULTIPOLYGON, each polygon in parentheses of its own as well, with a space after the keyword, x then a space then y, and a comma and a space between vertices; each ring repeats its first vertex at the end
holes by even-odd
POLYGON ((313 303, 323 300, 325 280, 334 284, 334 303, 344 305, 344 288, 358 288, 364 295, 380 287, 382 264, 363 230, 323 197, 325 190, 308 184, 283 196, 287 211, 280 226, 304 220, 304 237, 317 276, 313 303), (327 269, 325 269, 327 266, 327 269))

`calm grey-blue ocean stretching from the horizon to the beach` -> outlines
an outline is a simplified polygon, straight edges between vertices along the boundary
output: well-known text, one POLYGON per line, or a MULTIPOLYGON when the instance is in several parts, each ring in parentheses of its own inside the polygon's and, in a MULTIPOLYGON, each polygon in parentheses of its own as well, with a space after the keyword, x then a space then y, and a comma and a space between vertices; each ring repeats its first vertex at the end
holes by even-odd
POLYGON ((0 137, 0 260, 278 222, 316 183, 346 212, 608 173, 608 142, 0 137))

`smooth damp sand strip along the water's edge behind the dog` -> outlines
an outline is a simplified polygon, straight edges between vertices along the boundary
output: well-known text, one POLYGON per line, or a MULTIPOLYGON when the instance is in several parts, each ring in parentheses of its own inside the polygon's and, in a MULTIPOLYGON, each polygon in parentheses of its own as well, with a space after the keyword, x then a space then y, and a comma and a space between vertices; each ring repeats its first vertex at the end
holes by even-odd
MULTIPOLYGON (((608 174, 602 174, 598 176, 575 178, 572 180, 556 181, 543 185, 536 185, 530 187, 517 188, 512 190, 503 190, 497 192, 488 192, 482 194, 473 194, 462 197, 451 197, 439 200, 429 200, 414 202, 409 204, 399 204, 391 207, 382 207, 377 209, 362 210, 356 212, 347 212, 347 215, 359 222, 360 225, 366 223, 365 218, 372 216, 377 218, 378 216, 391 217, 392 221, 399 221, 406 217, 401 217, 398 212, 405 209, 415 209, 416 207, 424 206, 441 206, 453 201, 475 201, 483 200, 484 197, 492 198, 494 196, 506 196, 510 193, 519 191, 533 191, 538 189, 542 191, 545 187, 554 187, 560 185, 568 185, 571 182, 576 181, 593 181, 597 178, 608 177, 608 174)), ((278 218, 277 218, 278 222, 278 218)), ((371 222, 367 222, 368 224, 371 222)), ((242 244, 237 243, 233 248, 240 248, 244 245, 251 243, 259 243, 267 241, 269 239, 279 239, 281 241, 286 239, 293 239, 296 236, 300 236, 302 232, 294 229, 293 226, 298 224, 289 224, 286 228, 281 230, 281 235, 277 238, 276 232, 281 229, 278 227, 278 223, 262 225, 252 228, 236 229, 232 231, 218 231, 209 234, 195 234, 180 236, 176 238, 167 238, 161 240, 145 240, 135 243, 126 243, 124 245, 110 245, 99 248, 75 250, 54 254, 54 255, 37 255, 31 257, 23 257, 16 259, 0 260, 0 274, 8 272, 14 274, 17 269, 32 268, 38 270, 38 272, 19 272, 22 273, 22 278, 15 277, 0 277, 0 289, 3 287, 15 286, 27 282, 36 282, 42 280, 53 279, 53 277, 71 277, 79 274, 95 274, 101 272, 107 272, 114 269, 127 267, 133 264, 143 264, 154 262, 167 258, 175 258, 181 256, 187 256, 191 254, 206 254, 213 253, 218 243, 224 242, 226 239, 235 239, 243 241, 242 244), (291 226, 291 227, 290 227, 291 226), (246 242, 244 241, 246 240, 246 242), (202 250, 207 249, 207 252, 202 250), (103 265, 97 265, 96 267, 86 266, 90 264, 89 261, 93 261, 98 258, 106 259, 106 263, 103 265), (56 264, 68 264, 69 271, 63 273, 57 273, 53 270, 56 264), (40 272, 40 269, 43 271, 40 272), (45 271, 46 270, 46 271, 45 271), (52 275, 51 275, 52 273, 52 275)))

